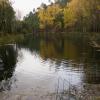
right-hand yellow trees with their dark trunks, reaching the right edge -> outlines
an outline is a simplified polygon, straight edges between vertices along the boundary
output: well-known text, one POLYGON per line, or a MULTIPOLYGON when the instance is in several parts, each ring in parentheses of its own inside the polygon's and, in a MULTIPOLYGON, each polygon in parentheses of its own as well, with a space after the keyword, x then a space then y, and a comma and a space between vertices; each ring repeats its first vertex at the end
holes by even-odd
POLYGON ((64 9, 65 27, 77 31, 99 31, 99 0, 71 0, 64 9))

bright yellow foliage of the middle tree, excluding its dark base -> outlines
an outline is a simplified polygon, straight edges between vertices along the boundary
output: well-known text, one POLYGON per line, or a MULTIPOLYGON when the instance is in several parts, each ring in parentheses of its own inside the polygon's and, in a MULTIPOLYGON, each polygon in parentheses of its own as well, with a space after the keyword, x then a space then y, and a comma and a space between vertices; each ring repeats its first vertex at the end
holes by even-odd
POLYGON ((49 5, 46 9, 40 9, 38 16, 40 19, 40 28, 45 28, 47 25, 53 26, 55 16, 62 11, 58 4, 49 5))

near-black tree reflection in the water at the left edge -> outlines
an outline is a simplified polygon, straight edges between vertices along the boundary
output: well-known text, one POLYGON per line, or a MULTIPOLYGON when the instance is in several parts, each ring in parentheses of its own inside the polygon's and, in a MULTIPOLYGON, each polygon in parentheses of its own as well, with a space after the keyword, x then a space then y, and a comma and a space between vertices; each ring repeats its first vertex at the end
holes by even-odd
POLYGON ((0 47, 0 91, 10 90, 11 81, 17 62, 17 48, 15 45, 0 47))

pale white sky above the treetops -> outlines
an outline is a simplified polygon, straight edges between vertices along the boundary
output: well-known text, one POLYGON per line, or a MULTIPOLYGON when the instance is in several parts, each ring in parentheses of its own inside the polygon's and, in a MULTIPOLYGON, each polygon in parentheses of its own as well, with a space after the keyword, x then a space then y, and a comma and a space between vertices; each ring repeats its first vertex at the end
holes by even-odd
POLYGON ((33 11, 33 8, 38 8, 41 3, 49 4, 49 0, 11 0, 12 6, 16 11, 16 15, 23 18, 30 11, 33 11))

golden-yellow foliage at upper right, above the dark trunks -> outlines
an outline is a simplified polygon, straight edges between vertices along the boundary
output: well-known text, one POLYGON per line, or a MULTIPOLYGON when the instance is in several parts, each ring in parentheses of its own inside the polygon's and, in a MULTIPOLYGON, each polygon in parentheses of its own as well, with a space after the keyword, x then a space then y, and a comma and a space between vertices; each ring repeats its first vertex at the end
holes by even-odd
POLYGON ((71 0, 64 8, 65 27, 73 26, 80 19, 90 23, 97 8, 100 9, 99 0, 71 0))

